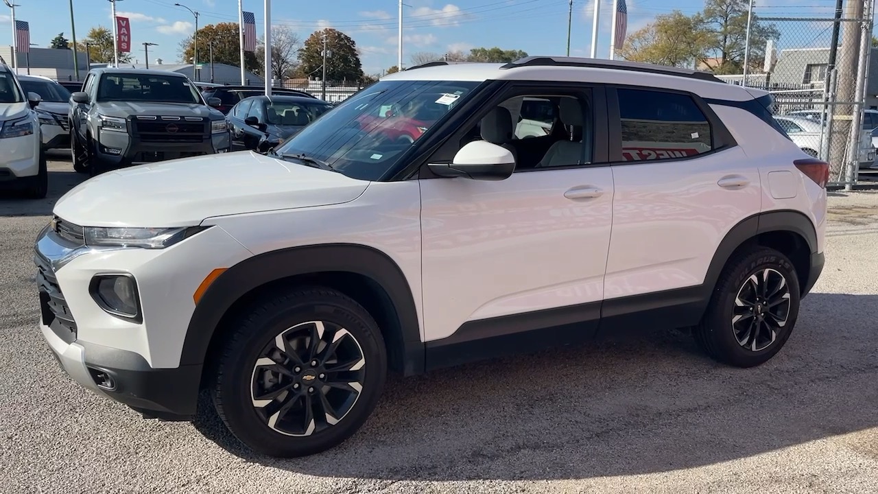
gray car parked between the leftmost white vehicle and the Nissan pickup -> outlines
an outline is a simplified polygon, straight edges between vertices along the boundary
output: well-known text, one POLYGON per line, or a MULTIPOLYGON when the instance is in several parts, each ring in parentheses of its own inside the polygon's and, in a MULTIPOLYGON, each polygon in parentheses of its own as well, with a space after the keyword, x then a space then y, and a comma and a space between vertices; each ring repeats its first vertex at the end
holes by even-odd
POLYGON ((45 76, 18 76, 22 89, 40 95, 36 112, 43 132, 43 149, 70 149, 70 91, 45 76))

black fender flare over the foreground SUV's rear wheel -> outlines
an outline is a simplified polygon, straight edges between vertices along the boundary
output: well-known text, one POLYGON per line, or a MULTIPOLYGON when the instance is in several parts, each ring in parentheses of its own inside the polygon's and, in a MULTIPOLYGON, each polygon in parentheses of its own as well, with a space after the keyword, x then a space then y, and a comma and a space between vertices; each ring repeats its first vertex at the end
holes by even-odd
MULTIPOLYGON (((817 252, 817 230, 814 228, 814 223, 805 214, 792 209, 753 214, 738 222, 723 237, 710 261, 702 286, 708 287, 712 291, 716 287, 720 273, 723 272, 723 268, 729 262, 732 254, 738 250, 738 247, 760 234, 772 231, 788 231, 801 236, 808 244, 810 254, 817 252)), ((706 298, 705 303, 710 297, 706 298)))

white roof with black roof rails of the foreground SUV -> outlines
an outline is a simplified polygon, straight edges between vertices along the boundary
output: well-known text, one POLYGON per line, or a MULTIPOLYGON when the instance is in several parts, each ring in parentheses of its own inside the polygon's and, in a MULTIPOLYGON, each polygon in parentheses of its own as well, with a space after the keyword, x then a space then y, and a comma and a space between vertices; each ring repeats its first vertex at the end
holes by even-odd
POLYGON ((767 91, 729 84, 709 72, 583 57, 528 56, 515 62, 429 62, 381 78, 431 81, 552 81, 630 84, 694 92, 703 98, 747 101, 767 91))

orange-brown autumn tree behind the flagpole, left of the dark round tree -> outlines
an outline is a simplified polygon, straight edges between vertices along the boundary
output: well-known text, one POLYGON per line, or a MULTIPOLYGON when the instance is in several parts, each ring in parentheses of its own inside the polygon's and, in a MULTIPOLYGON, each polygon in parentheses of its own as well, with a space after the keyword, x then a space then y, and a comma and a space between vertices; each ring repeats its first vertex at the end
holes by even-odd
MULTIPOLYGON (((210 63, 210 45, 213 45, 213 62, 225 63, 241 67, 241 39, 239 38, 238 23, 220 22, 209 24, 198 29, 198 62, 210 63)), ((192 36, 180 41, 180 58, 191 62, 195 54, 195 44, 192 36)), ((255 53, 244 52, 244 69, 251 72, 261 73, 262 64, 255 53)), ((204 74, 204 69, 202 69, 204 74)))

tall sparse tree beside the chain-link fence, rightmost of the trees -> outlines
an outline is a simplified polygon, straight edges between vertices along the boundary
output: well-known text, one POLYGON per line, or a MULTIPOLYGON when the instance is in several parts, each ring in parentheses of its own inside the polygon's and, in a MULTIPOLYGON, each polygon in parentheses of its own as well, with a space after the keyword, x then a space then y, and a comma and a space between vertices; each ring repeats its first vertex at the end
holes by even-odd
MULTIPOLYGON (((702 62, 717 74, 741 74, 744 71, 747 36, 748 0, 706 0, 702 19, 709 33, 702 62)), ((750 32, 751 69, 758 69, 765 59, 766 42, 781 36, 774 25, 766 25, 753 14, 750 32)))

